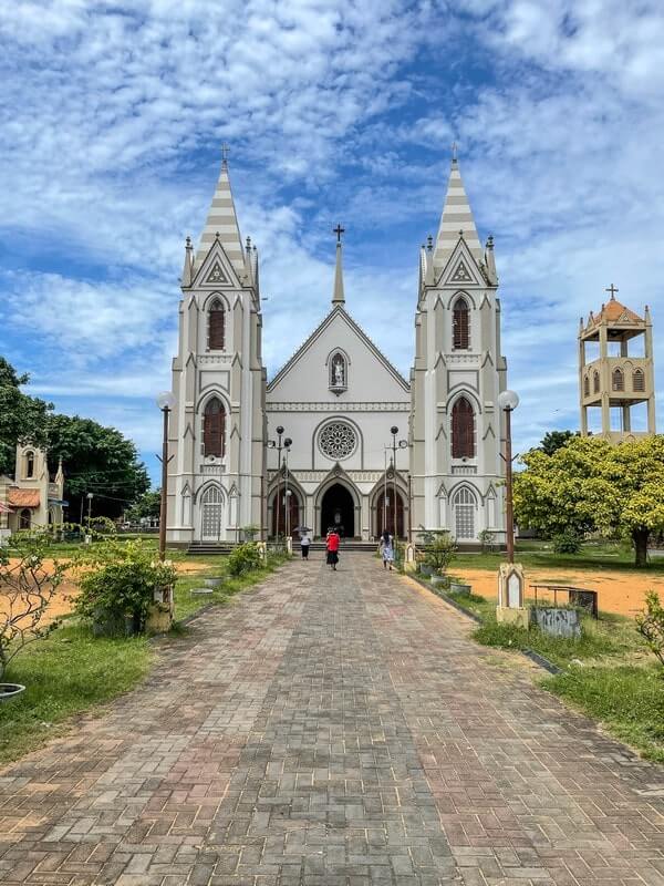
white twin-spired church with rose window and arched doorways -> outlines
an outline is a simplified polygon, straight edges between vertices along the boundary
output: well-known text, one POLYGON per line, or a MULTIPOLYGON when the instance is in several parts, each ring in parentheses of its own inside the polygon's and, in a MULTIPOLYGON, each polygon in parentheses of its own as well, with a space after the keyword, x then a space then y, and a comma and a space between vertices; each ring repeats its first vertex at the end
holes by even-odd
POLYGON ((196 251, 187 238, 173 361, 168 540, 214 544, 309 527, 345 538, 448 529, 505 539, 500 301, 456 158, 437 237, 419 254, 409 378, 353 320, 342 229, 330 311, 272 378, 259 262, 242 243, 228 164, 196 251), (290 445, 286 445, 290 441, 290 445), (396 464, 394 464, 396 455, 396 464))

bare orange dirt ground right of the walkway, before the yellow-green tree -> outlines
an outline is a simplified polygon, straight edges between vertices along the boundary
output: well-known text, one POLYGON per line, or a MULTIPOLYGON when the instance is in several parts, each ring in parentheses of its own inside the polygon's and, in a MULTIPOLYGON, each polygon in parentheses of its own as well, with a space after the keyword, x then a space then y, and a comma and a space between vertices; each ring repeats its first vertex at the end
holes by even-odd
MULTIPOLYGON (((450 569, 452 574, 464 578, 473 587, 474 594, 481 597, 496 599, 497 573, 488 569, 450 569)), ((560 581, 578 588, 598 591, 598 604, 601 611, 616 612, 623 616, 635 616, 644 607, 645 594, 656 590, 664 600, 664 576, 636 575, 619 570, 602 569, 593 573, 588 569, 556 568, 526 568, 526 598, 532 599, 533 591, 530 585, 538 581, 560 581)), ((538 597, 540 591, 538 590, 538 597)), ((559 595, 560 602, 567 602, 566 595, 559 595)))

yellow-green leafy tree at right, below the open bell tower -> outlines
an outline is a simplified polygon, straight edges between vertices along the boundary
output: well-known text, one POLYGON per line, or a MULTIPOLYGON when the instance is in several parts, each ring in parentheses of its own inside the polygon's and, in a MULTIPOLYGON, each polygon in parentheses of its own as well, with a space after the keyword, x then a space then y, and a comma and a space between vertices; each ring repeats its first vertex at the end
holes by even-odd
POLYGON ((636 566, 647 562, 647 539, 664 528, 664 436, 611 445, 572 437, 547 455, 523 455, 515 475, 515 515, 521 526, 549 535, 598 529, 631 538, 636 566))

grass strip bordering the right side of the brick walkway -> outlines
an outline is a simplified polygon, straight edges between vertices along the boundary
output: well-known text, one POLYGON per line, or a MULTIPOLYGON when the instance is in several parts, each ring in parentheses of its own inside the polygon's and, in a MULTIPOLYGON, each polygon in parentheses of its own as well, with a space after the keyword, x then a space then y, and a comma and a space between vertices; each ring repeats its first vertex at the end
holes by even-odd
MULTIPOLYGON (((457 560, 455 560, 455 566, 457 560)), ((480 619, 473 637, 484 646, 530 649, 562 671, 540 684, 598 720, 643 756, 664 763, 664 669, 646 649, 634 620, 601 612, 583 617, 578 640, 496 621, 496 602, 476 594, 450 595, 480 619)))

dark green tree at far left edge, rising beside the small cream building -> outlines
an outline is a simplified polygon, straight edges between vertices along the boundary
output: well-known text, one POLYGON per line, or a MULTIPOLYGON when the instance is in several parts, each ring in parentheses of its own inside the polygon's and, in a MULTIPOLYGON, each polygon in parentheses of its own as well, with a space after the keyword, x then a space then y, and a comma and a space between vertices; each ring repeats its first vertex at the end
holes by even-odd
POLYGON ((21 387, 29 381, 0 357, 0 474, 13 474, 18 443, 46 443, 46 415, 53 404, 24 394, 21 387))

